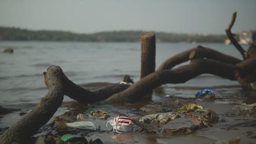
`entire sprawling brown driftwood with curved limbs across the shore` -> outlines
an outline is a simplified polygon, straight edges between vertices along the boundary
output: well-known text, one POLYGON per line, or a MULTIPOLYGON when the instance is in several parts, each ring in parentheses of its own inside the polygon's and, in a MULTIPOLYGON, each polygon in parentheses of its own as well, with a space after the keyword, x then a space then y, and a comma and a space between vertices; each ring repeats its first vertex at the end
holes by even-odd
MULTIPOLYGON (((234 37, 231 33, 231 27, 235 22, 234 15, 226 32, 231 43, 237 48, 237 41, 232 39, 234 37)), ((73 83, 63 74, 60 67, 51 66, 44 73, 48 93, 31 112, 1 135, 0 143, 26 143, 26 140, 53 116, 62 104, 64 95, 83 104, 101 100, 114 104, 133 103, 139 100, 150 100, 149 93, 156 87, 166 83, 184 83, 201 74, 213 74, 225 79, 237 80, 243 87, 250 89, 252 88, 250 83, 256 81, 256 46, 252 44, 247 52, 239 46, 237 50, 243 56, 243 61, 209 48, 197 46, 167 59, 157 71, 144 75, 132 86, 113 84, 95 92, 73 83), (190 63, 174 68, 186 61, 190 63)))

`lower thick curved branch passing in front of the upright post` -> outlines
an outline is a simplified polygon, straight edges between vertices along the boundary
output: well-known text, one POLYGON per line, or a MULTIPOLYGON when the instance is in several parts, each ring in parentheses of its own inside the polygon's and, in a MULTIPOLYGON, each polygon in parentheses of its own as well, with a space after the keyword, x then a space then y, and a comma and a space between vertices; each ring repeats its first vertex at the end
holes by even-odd
MULTIPOLYGON (((123 92, 112 95, 107 99, 110 103, 132 103, 144 100, 141 95, 166 83, 184 83, 201 74, 213 74, 229 80, 236 80, 234 70, 239 69, 236 65, 226 64, 213 59, 194 59, 188 65, 171 69, 156 71, 136 82, 123 92)), ((150 99, 150 98, 148 98, 150 99)))

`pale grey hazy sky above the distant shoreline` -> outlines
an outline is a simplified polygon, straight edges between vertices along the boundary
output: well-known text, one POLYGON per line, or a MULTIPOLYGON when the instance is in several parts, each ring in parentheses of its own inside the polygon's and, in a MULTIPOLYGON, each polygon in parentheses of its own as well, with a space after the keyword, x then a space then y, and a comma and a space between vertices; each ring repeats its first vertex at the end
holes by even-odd
POLYGON ((224 34, 256 29, 256 0, 0 0, 0 26, 75 33, 224 34))

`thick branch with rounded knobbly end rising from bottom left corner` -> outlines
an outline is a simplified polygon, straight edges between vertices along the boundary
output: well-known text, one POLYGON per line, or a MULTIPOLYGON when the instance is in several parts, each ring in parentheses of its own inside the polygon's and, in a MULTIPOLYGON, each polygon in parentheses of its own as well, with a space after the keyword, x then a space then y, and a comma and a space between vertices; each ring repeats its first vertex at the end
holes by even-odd
POLYGON ((60 67, 48 68, 45 74, 45 85, 48 87, 48 93, 31 112, 1 135, 0 143, 26 143, 31 135, 53 117, 61 106, 64 96, 62 75, 63 72, 60 67))

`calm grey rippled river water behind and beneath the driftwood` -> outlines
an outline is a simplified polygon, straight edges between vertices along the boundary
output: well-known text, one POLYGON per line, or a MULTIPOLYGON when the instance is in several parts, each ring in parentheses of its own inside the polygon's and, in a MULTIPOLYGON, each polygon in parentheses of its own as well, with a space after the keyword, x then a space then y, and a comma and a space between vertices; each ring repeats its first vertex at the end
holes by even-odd
MULTIPOLYGON (((200 45, 242 59, 240 53, 232 45, 200 45)), ((196 46, 181 43, 156 44, 156 68, 167 58, 196 46)), ((50 65, 59 65, 67 77, 77 84, 90 82, 117 83, 122 81, 126 74, 129 74, 131 79, 136 82, 140 76, 140 43, 1 41, 0 51, 0 105, 21 108, 22 111, 31 109, 47 93, 43 72, 50 65), (3 53, 2 51, 7 47, 12 47, 14 53, 3 53)), ((205 74, 186 83, 165 85, 164 93, 154 92, 153 101, 166 100, 166 95, 195 97, 195 93, 200 89, 187 87, 209 87, 213 88, 218 95, 223 97, 225 95, 234 96, 236 100, 241 99, 243 102, 243 98, 246 96, 243 94, 241 87, 222 88, 222 86, 237 85, 239 85, 237 81, 205 74)), ((64 100, 69 101, 71 99, 65 97, 64 100)), ((225 103, 225 101, 222 101, 222 103, 225 103)), ((217 107, 216 111, 218 109, 221 108, 217 107)), ((219 110, 219 112, 223 111, 219 110)), ((13 125, 19 119, 17 115, 16 113, 0 118, 0 127, 13 125)), ((159 141, 165 139, 165 137, 162 137, 159 141)), ((182 137, 182 139, 191 140, 189 137, 182 137)), ((197 140, 204 142, 204 139, 197 140)))

